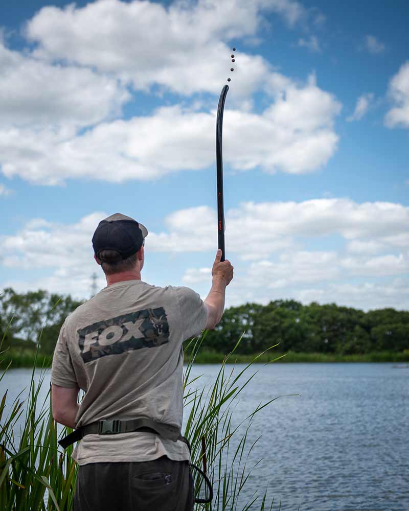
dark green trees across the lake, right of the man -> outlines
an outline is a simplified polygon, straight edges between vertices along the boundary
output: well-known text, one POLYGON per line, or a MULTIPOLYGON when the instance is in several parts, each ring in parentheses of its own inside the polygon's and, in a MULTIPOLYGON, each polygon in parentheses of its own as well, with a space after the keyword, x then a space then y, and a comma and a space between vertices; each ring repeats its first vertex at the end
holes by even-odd
POLYGON ((392 308, 363 312, 336 304, 303 305, 275 300, 268 305, 230 307, 205 339, 209 348, 255 353, 279 343, 280 352, 336 353, 401 352, 409 347, 409 312, 392 308), (244 334, 243 334, 244 332, 244 334))

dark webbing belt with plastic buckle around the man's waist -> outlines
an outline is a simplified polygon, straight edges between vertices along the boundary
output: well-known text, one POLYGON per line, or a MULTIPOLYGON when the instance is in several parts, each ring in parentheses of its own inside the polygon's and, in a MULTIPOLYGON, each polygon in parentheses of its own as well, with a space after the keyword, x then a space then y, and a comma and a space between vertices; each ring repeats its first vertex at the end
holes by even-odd
POLYGON ((71 444, 74 444, 74 442, 81 440, 85 435, 115 435, 118 433, 131 433, 132 431, 148 431, 150 433, 156 433, 168 440, 172 440, 172 442, 181 440, 181 442, 184 442, 189 447, 190 451, 188 439, 180 434, 180 429, 177 426, 152 421, 152 419, 148 419, 147 417, 139 417, 138 419, 129 419, 126 421, 122 421, 120 419, 105 419, 91 424, 86 424, 59 440, 58 444, 63 449, 66 449, 68 446, 71 446, 71 444))

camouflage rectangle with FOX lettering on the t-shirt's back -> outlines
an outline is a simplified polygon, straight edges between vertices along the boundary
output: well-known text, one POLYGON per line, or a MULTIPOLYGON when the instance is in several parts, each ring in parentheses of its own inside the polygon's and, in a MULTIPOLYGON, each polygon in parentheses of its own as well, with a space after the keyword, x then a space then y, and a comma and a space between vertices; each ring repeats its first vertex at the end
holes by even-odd
POLYGON ((161 346, 169 342, 169 323, 163 307, 131 312, 90 324, 77 331, 82 360, 161 346))

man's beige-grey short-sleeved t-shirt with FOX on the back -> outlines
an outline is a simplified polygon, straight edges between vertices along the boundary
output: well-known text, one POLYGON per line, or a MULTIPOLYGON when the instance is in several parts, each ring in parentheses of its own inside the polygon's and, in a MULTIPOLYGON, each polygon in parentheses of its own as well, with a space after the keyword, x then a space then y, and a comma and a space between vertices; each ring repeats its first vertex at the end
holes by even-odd
MULTIPOLYGON (((70 314, 55 347, 51 383, 85 391, 75 426, 102 419, 149 417, 181 427, 182 342, 206 326, 207 308, 186 287, 122 281, 70 314)), ((77 444, 80 464, 190 459, 184 442, 149 432, 89 434, 77 444)))

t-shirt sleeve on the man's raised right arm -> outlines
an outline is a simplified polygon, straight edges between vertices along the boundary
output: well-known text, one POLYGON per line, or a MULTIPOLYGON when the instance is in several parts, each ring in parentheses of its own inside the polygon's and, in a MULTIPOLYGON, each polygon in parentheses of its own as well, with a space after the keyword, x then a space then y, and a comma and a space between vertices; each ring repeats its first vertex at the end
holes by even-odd
POLYGON ((181 324, 183 325, 184 340, 189 339, 206 327, 208 309, 200 296, 187 287, 175 288, 179 299, 181 324))

